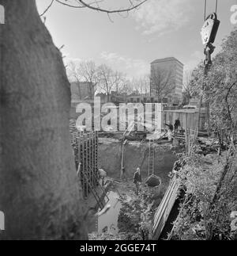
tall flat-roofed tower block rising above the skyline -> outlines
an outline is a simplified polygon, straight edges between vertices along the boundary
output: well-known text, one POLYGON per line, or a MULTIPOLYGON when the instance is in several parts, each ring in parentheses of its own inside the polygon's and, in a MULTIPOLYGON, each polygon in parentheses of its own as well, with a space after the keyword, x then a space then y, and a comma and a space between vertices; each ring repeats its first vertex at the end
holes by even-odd
POLYGON ((182 102, 183 64, 174 57, 156 59, 151 63, 151 96, 167 97, 169 105, 180 105, 182 102), (159 90, 160 87, 160 90, 159 90), (168 94, 164 92, 167 87, 168 94), (162 92, 160 93, 160 91, 162 92))

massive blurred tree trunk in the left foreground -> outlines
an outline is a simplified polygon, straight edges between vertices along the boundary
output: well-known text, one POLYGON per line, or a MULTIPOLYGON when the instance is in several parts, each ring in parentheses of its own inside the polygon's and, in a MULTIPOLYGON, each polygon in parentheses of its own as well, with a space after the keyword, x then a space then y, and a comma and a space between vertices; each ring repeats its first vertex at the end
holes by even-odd
POLYGON ((70 148, 70 83, 32 0, 0 0, 2 239, 86 239, 70 148), (73 235, 74 234, 74 235, 73 235))

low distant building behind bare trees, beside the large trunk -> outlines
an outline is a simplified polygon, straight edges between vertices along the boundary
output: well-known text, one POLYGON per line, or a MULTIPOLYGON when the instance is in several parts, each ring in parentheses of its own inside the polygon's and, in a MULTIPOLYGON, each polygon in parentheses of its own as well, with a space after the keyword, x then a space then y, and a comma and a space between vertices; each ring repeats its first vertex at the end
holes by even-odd
POLYGON ((92 82, 71 82, 71 101, 91 100, 95 94, 92 82))

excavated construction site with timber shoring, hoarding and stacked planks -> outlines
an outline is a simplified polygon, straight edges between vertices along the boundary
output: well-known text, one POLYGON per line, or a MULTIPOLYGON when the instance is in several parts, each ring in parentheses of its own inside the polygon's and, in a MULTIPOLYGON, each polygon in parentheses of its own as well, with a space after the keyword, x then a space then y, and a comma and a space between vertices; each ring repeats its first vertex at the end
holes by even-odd
POLYGON ((199 113, 197 109, 164 110, 160 117, 159 132, 137 132, 136 121, 127 123, 125 132, 111 132, 111 129, 79 132, 76 120, 70 120, 78 181, 88 209, 94 211, 89 224, 92 237, 93 234, 116 235, 121 229, 119 227, 126 225, 119 220, 121 198, 131 201, 138 197, 134 185, 137 168, 141 170, 141 187, 149 188, 156 198, 156 212, 152 212, 152 238, 159 239, 161 234, 166 237, 167 222, 167 226, 171 226, 168 218, 172 211, 176 211, 177 216, 177 202, 180 200, 178 179, 174 176, 175 170, 183 165, 179 155, 189 155, 194 143, 196 146, 198 143, 200 154, 216 151, 218 145, 213 144, 216 139, 209 144, 208 132, 205 131, 205 113, 199 113), (180 128, 169 138, 166 125, 174 124, 177 119, 180 128))

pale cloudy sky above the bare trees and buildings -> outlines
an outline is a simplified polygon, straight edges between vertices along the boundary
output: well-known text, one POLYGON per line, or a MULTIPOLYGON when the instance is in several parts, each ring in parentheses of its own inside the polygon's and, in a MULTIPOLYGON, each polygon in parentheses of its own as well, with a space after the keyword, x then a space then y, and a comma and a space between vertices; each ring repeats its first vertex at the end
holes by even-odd
MULTIPOLYGON (((72 0, 71 0, 72 1, 72 0)), ((39 13, 51 0, 37 0, 39 13)), ((204 19, 204 0, 148 0, 139 10, 123 18, 118 14, 99 13, 88 9, 73 9, 57 2, 45 16, 47 29, 55 45, 67 59, 94 60, 107 63, 129 77, 149 74, 154 59, 174 56, 193 69, 204 58, 200 30, 204 19)), ((216 0, 207 0, 207 12, 215 10, 216 0)), ((231 6, 237 0, 219 0, 220 29, 214 45, 234 25, 231 6)), ((104 5, 125 6, 126 0, 105 0, 104 5)), ((216 51, 216 52, 217 52, 216 51)))

